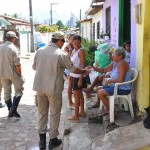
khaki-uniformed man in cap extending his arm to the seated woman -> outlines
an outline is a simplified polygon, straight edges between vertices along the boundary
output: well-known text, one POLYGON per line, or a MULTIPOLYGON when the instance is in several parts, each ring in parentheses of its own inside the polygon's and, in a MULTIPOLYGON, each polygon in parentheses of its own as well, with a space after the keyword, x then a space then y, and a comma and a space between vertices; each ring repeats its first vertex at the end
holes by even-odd
POLYGON ((64 88, 64 70, 87 73, 73 66, 67 53, 61 50, 64 45, 64 33, 54 32, 48 46, 39 49, 34 57, 33 69, 36 70, 33 90, 37 91, 38 100, 38 132, 40 149, 46 149, 46 127, 50 107, 49 149, 59 146, 58 127, 62 108, 62 91, 64 88))

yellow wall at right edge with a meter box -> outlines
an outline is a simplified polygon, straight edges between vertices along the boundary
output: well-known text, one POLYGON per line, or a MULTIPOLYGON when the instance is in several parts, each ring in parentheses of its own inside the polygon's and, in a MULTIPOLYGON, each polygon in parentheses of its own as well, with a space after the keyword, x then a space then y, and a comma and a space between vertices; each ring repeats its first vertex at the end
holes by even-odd
POLYGON ((139 76, 136 86, 136 101, 139 111, 150 105, 150 0, 137 0, 136 67, 139 76), (139 21, 139 22, 138 22, 139 21))

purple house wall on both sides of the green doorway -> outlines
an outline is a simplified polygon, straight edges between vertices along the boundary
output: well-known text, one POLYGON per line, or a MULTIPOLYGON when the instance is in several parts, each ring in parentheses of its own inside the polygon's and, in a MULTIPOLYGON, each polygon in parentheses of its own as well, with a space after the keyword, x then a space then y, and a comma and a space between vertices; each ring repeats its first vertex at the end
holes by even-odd
MULTIPOLYGON (((133 9, 137 0, 131 0, 131 66, 136 66, 136 23, 133 9)), ((106 8, 111 6, 111 40, 114 46, 118 45, 119 35, 119 0, 106 0, 103 5, 103 30, 106 33, 106 8)))

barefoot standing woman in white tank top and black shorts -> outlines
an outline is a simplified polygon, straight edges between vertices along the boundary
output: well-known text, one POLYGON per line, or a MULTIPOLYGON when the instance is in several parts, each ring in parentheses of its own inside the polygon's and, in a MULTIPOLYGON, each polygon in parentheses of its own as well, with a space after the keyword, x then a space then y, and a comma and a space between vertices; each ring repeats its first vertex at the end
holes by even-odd
MULTIPOLYGON (((85 51, 81 47, 81 37, 75 35, 73 37, 74 50, 72 53, 71 61, 78 68, 85 68, 85 51)), ((69 120, 79 120, 79 117, 85 116, 84 112, 84 97, 82 93, 82 88, 87 87, 86 78, 83 74, 70 74, 73 77, 73 93, 75 98, 75 113, 73 116, 69 117, 69 120), (80 106, 80 109, 79 109, 80 106), (80 110, 80 112, 79 112, 80 110)))

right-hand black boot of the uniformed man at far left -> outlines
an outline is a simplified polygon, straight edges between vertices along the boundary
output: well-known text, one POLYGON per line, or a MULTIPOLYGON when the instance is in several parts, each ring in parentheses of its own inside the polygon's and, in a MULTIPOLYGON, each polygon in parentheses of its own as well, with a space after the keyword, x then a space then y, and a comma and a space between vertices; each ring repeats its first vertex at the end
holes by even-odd
POLYGON ((12 107, 10 108, 9 115, 13 115, 14 117, 20 118, 20 114, 18 114, 17 108, 18 108, 21 97, 22 96, 17 96, 17 97, 14 96, 13 104, 12 104, 12 107))

